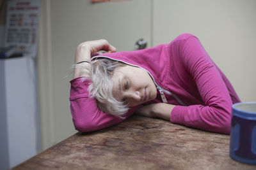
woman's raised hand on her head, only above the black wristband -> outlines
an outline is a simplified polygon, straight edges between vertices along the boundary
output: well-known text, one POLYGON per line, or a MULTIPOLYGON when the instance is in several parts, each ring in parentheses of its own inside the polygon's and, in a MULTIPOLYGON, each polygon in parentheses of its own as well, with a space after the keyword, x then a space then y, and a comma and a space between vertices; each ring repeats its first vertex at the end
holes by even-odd
POLYGON ((116 48, 108 43, 106 39, 99 39, 95 41, 86 41, 79 44, 76 48, 76 63, 83 60, 91 60, 91 56, 99 50, 106 52, 116 52, 116 48))

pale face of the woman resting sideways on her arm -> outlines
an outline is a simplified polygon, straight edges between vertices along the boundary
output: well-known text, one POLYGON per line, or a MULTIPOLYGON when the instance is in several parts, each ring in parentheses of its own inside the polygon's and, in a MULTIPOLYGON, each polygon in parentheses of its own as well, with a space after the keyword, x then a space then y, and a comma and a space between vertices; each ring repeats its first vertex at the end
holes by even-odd
POLYGON ((150 75, 140 67, 125 65, 115 69, 111 78, 113 96, 133 107, 157 96, 156 85, 150 75))

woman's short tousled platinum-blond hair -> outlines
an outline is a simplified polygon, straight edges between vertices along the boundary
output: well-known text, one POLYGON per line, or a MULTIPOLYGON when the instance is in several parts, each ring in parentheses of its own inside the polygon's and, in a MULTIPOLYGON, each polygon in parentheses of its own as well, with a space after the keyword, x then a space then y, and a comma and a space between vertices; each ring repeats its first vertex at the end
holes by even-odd
POLYGON ((118 101, 113 96, 113 83, 110 80, 115 69, 124 64, 111 59, 95 59, 91 64, 90 79, 92 83, 88 88, 90 97, 97 100, 100 110, 124 118, 124 113, 127 113, 129 108, 124 102, 118 101))

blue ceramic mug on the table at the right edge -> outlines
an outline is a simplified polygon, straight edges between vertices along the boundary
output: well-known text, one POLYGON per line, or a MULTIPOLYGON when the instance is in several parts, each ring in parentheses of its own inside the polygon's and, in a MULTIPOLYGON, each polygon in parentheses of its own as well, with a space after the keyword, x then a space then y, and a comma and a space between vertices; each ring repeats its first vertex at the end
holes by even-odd
POLYGON ((256 164, 256 102, 232 106, 230 157, 246 164, 256 164))

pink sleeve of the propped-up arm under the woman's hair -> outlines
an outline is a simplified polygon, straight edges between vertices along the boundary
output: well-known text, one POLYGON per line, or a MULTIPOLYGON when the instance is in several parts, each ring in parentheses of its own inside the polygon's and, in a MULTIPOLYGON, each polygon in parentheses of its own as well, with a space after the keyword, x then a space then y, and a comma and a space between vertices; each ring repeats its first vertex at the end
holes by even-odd
MULTIPOLYGON (((104 129, 121 122, 123 119, 104 113, 97 107, 94 98, 89 97, 88 86, 90 80, 82 81, 81 78, 71 80, 70 111, 77 131, 89 132, 104 129)), ((127 117, 131 115, 127 114, 127 117)))

